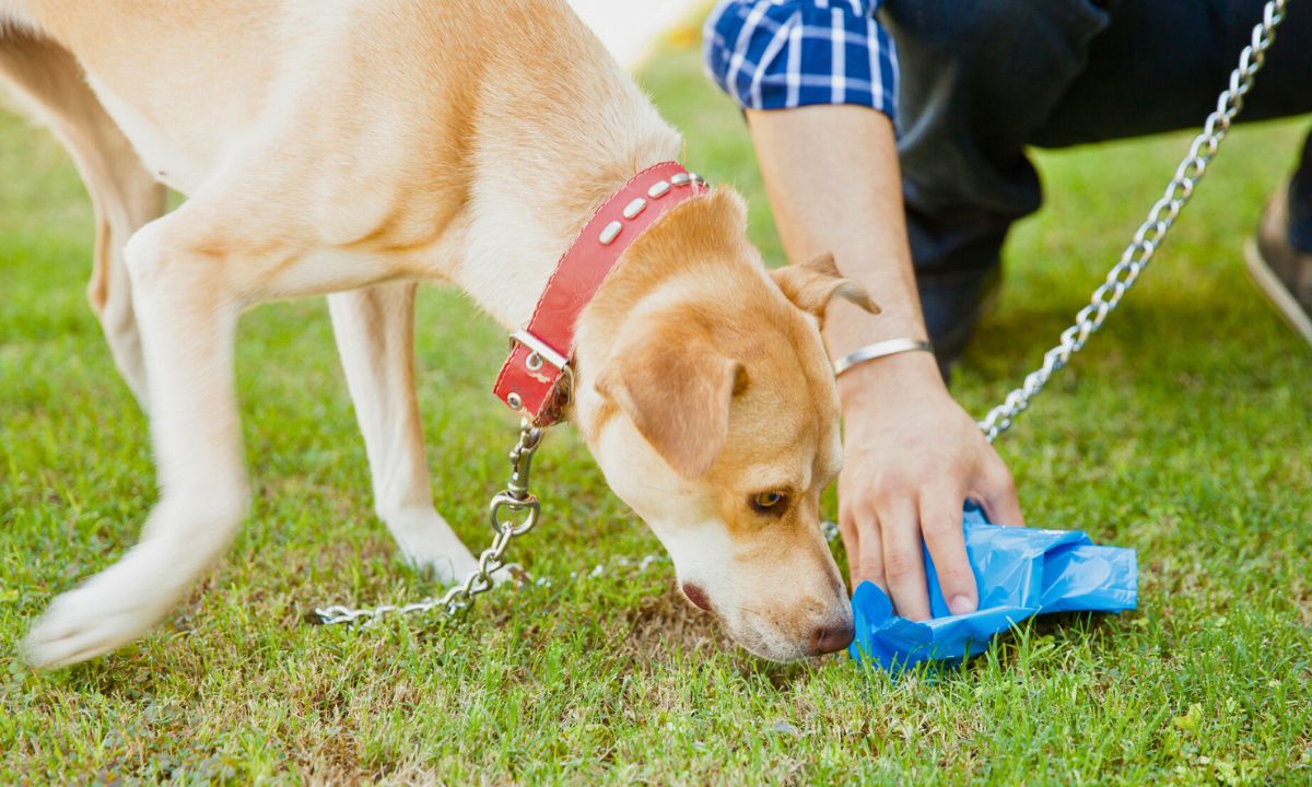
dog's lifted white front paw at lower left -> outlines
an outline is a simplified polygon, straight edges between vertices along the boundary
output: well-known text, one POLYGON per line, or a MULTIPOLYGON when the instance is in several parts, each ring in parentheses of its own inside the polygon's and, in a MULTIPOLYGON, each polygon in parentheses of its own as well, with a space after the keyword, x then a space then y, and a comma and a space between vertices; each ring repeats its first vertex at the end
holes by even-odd
POLYGON ((173 605, 177 589, 160 581, 157 556, 146 544, 80 588, 55 598, 22 641, 24 660, 58 669, 130 643, 173 605))

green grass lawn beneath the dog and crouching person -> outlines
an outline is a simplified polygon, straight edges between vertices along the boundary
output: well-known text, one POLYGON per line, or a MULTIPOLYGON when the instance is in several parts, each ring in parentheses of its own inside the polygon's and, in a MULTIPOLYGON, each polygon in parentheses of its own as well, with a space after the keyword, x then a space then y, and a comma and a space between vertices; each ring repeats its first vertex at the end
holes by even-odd
MULTIPOLYGON (((781 260, 743 123, 686 38, 644 83, 781 260)), ((83 299, 91 206, 46 134, 0 117, 0 780, 1312 780, 1312 354, 1239 256, 1304 126, 1235 134, 1141 289, 1002 442, 1033 525, 1139 550, 1140 610, 1025 626, 895 682, 757 661, 676 599, 666 564, 622 565, 659 544, 568 429, 537 466, 542 531, 514 546, 552 586, 467 626, 308 626, 316 603, 437 590, 370 513, 321 300, 243 323, 256 504, 226 563, 140 641, 31 673, 26 627, 133 543, 155 493, 147 424, 83 299)), ((955 382, 972 412, 1036 363, 1183 142, 1039 156, 1048 206, 1014 233, 955 382)), ((482 548, 514 429, 487 391, 504 337, 436 290, 419 325, 434 493, 482 548)))

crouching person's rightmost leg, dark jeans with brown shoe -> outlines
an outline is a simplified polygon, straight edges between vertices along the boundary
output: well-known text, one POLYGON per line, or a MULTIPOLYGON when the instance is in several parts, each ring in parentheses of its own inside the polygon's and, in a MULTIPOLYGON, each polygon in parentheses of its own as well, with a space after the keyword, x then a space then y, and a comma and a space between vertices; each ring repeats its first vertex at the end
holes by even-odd
MULTIPOLYGON (((1250 43, 1263 8, 1265 0, 1118 3, 1111 26, 1090 47, 1089 67, 1034 143, 1064 146, 1198 129, 1215 110, 1216 96, 1250 43)), ((1312 14, 1291 3, 1239 122, 1312 111, 1309 85, 1312 14)), ((1307 261, 1312 253, 1312 142, 1305 139, 1300 151, 1271 155, 1294 159, 1295 172, 1288 188, 1273 195, 1284 203, 1267 205, 1256 244, 1249 247, 1258 256, 1245 257, 1262 291, 1312 341, 1312 264, 1307 261)))

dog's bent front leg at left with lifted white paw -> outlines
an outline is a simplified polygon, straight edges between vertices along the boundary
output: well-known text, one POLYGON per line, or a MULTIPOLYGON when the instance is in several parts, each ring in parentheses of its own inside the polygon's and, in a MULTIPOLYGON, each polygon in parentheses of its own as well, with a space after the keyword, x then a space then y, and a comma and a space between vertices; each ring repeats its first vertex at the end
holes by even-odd
POLYGON ((84 661, 135 639, 223 554, 245 515, 232 369, 243 303, 231 286, 231 253, 194 214, 184 207, 147 224, 126 249, 160 500, 142 540, 56 598, 33 627, 24 649, 37 666, 84 661))

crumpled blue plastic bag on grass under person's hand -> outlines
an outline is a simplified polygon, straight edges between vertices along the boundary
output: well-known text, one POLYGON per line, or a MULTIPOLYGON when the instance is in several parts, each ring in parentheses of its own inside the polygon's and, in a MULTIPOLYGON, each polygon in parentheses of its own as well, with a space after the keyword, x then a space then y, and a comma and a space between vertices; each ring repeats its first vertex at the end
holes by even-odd
POLYGON ((992 525, 966 506, 966 555, 975 571, 979 609, 953 615, 925 550, 932 619, 893 615, 888 595, 862 582, 851 597, 857 635, 848 652, 897 672, 922 661, 960 661, 988 649, 993 635, 1038 614, 1090 610, 1119 613, 1139 601, 1134 550, 1099 547, 1077 530, 992 525))

